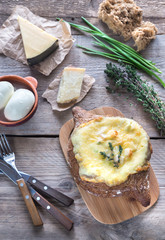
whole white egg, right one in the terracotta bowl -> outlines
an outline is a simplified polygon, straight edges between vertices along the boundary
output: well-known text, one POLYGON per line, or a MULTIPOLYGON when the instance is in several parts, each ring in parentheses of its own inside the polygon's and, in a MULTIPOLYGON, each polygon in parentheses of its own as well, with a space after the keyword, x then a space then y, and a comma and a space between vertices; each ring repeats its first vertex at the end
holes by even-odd
POLYGON ((10 121, 18 121, 30 112, 34 102, 35 97, 31 91, 18 89, 7 103, 4 115, 10 121))

